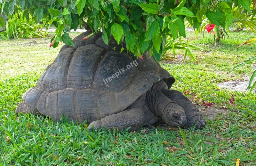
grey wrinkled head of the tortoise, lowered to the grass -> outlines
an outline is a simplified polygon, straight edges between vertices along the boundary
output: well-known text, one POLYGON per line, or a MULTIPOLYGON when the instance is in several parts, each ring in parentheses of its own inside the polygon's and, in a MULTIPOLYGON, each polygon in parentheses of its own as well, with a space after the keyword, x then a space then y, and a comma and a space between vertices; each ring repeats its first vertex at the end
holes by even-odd
POLYGON ((183 108, 174 102, 165 106, 161 117, 165 123, 171 126, 184 126, 187 123, 183 108))

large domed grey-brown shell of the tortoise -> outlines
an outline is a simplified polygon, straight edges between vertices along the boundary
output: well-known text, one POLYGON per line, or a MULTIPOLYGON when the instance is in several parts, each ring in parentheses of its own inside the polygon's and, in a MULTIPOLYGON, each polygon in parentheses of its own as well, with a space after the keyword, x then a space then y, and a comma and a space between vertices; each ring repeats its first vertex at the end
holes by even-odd
POLYGON ((63 114, 69 121, 91 123, 124 111, 160 80, 168 88, 174 83, 148 52, 143 61, 125 50, 120 53, 125 43, 118 46, 111 37, 106 45, 101 32, 82 40, 91 33, 77 36, 75 47, 61 48, 37 85, 22 96, 28 105, 55 120, 63 114))

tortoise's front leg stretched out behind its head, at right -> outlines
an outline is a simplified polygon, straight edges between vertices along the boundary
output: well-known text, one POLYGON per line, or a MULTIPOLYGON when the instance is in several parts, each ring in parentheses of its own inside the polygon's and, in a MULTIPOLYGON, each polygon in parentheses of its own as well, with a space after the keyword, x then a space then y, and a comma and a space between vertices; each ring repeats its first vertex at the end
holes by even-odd
POLYGON ((200 114, 196 106, 188 99, 188 97, 184 96, 178 90, 162 89, 162 92, 165 96, 184 109, 187 118, 187 125, 185 126, 186 128, 196 125, 196 129, 200 129, 201 127, 205 126, 206 120, 200 114))

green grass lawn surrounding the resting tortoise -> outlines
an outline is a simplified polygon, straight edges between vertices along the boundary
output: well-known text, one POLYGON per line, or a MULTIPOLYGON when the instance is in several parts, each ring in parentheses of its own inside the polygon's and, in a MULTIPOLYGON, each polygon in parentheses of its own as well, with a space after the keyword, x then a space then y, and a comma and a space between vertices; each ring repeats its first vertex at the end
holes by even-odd
MULTIPOLYGON (((78 32, 70 33, 74 38, 78 32)), ((52 35, 50 33, 50 35, 52 35)), ((255 34, 229 33, 216 44, 213 34, 187 32, 198 63, 168 55, 160 61, 175 78, 172 89, 184 92, 198 107, 202 100, 224 110, 209 119, 205 128, 182 130, 157 124, 137 132, 88 131, 85 123, 54 122, 49 117, 14 113, 22 94, 36 85, 40 74, 54 61, 60 47, 49 48, 50 39, 0 41, 0 165, 255 165, 256 95, 220 89, 217 83, 251 76, 255 63, 230 72, 240 62, 256 56, 256 45, 235 48, 255 34), (230 105, 231 96, 234 106, 230 105)), ((48 37, 50 38, 50 37, 48 37)))

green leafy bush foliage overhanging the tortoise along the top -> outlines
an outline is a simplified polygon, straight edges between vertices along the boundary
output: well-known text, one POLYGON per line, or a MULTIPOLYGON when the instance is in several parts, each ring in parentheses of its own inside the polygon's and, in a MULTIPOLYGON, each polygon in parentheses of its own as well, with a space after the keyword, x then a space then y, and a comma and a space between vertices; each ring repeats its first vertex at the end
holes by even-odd
POLYGON ((232 5, 250 11, 256 0, 0 0, 2 12, 10 15, 24 11, 24 18, 56 26, 53 47, 60 41, 73 45, 64 29, 76 30, 86 22, 90 28, 103 32, 107 44, 112 34, 120 43, 125 40, 129 51, 139 56, 145 51, 156 60, 164 50, 166 37, 174 40, 186 36, 184 19, 198 29, 205 15, 209 21, 223 28, 231 24, 232 5))

